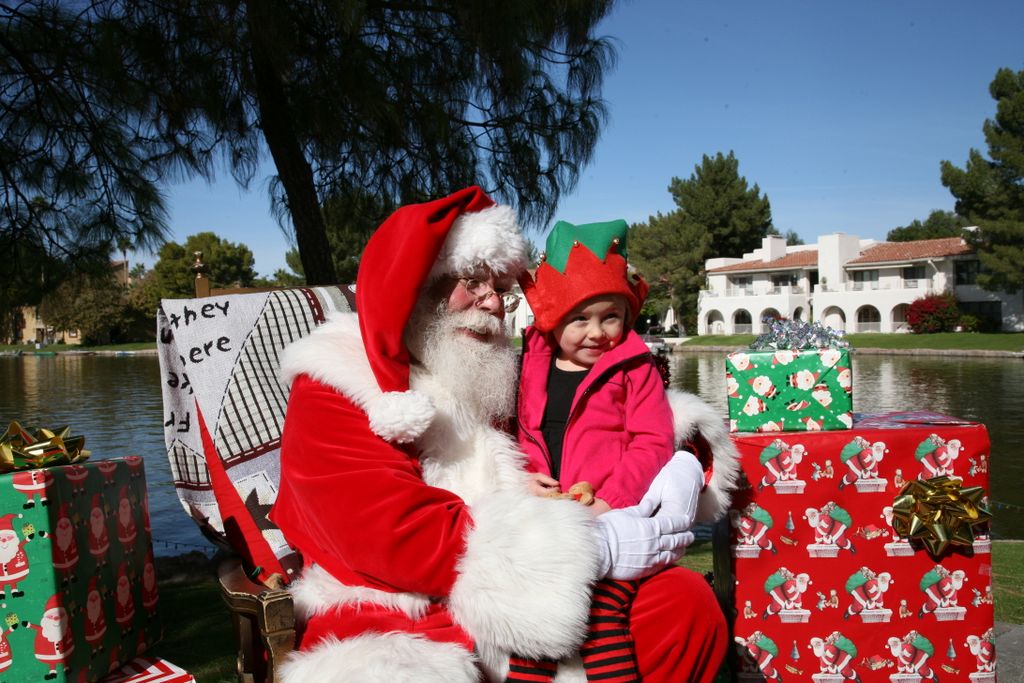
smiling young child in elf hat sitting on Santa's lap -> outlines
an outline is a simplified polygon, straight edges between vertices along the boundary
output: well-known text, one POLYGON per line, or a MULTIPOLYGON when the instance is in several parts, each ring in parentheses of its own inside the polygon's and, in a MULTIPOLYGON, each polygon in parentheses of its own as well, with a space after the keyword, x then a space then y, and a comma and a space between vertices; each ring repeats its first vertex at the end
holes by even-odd
MULTIPOLYGON (((522 283, 535 314, 518 403, 530 488, 541 496, 571 489, 595 515, 639 503, 675 451, 665 383, 631 330, 648 287, 627 271, 627 229, 623 220, 558 222, 536 279, 522 283)), ((695 509, 703 479, 695 458, 693 465, 695 509)), ((640 680, 627 618, 636 586, 609 580, 595 587, 581 648, 591 680, 640 680)), ((553 663, 512 665, 508 681, 551 680, 554 672, 553 663)))

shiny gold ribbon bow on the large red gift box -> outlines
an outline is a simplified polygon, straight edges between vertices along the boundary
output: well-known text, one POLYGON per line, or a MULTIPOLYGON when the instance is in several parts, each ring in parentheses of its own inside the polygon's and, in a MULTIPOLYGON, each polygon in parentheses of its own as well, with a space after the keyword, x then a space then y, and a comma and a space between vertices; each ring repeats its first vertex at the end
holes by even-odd
POLYGON ((901 537, 925 544, 941 555, 949 544, 974 544, 974 526, 992 518, 981 505, 985 489, 963 487, 961 479, 947 476, 907 481, 893 502, 893 529, 901 537))

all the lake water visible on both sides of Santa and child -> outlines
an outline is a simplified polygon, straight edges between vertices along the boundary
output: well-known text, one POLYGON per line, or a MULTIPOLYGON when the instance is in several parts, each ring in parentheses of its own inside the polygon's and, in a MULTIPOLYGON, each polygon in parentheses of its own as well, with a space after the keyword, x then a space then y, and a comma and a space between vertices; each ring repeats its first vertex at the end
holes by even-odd
MULTIPOLYGON (((674 383, 724 415, 724 354, 673 356, 674 383)), ((1024 539, 1024 362, 1019 358, 876 356, 854 358, 858 413, 928 409, 988 426, 992 439, 993 535, 1024 539)), ((145 459, 154 551, 212 547, 178 503, 165 455, 155 355, 0 357, 0 422, 30 428, 70 425, 93 459, 145 459)))

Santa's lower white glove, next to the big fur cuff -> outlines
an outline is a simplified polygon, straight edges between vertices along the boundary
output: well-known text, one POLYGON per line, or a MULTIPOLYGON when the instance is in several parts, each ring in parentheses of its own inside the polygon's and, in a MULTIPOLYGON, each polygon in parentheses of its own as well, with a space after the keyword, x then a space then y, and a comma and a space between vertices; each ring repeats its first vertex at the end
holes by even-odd
POLYGON ((686 530, 690 519, 668 513, 651 517, 652 512, 653 505, 641 502, 594 520, 598 579, 641 579, 683 556, 693 543, 693 535, 686 530))

